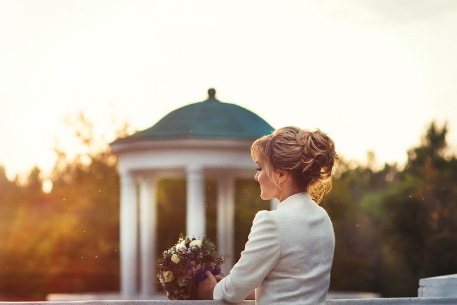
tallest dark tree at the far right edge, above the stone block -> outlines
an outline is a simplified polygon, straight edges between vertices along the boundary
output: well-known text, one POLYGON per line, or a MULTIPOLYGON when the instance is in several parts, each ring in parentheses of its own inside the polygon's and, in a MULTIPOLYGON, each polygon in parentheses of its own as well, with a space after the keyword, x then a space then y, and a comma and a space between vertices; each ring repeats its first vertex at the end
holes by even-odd
POLYGON ((446 124, 430 125, 383 200, 387 294, 416 295, 420 278, 457 272, 457 160, 446 156, 446 135, 446 124))

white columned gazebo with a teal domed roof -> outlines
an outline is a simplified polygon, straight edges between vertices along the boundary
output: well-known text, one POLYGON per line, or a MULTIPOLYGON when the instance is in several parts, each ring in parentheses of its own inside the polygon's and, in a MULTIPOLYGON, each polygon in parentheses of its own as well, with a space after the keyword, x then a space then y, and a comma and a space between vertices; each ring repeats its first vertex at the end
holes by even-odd
MULTIPOLYGON (((223 269, 225 274, 229 273, 234 264, 234 180, 254 176, 255 164, 249 148, 255 139, 272 131, 252 111, 217 100, 216 90, 211 88, 207 100, 176 109, 153 127, 111 143, 112 151, 118 156, 120 173, 123 297, 137 295, 137 291, 142 296, 154 294, 151 283, 155 282, 159 178, 186 178, 186 234, 196 237, 205 235, 204 180, 206 177, 216 180, 216 242, 218 250, 231 257, 223 269), (140 287, 136 284, 137 248, 140 249, 140 287)), ((271 207, 275 208, 276 204, 272 201, 271 207)))

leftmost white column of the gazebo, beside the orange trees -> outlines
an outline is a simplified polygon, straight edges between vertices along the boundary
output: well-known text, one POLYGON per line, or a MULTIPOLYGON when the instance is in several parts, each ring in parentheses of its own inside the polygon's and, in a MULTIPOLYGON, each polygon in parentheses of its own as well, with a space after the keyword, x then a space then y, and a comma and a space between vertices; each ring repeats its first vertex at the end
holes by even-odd
POLYGON ((137 198, 135 180, 120 175, 120 292, 128 299, 137 292, 137 198))

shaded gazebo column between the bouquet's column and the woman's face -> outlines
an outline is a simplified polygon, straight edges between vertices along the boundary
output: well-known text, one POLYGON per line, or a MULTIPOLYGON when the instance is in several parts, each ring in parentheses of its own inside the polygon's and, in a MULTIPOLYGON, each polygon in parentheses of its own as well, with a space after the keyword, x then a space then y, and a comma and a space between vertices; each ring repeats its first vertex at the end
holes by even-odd
POLYGON ((234 258, 234 216, 235 216, 235 180, 233 177, 224 177, 218 180, 218 217, 217 217, 217 247, 218 252, 227 254, 227 259, 222 266, 222 273, 228 275, 233 267, 234 258))

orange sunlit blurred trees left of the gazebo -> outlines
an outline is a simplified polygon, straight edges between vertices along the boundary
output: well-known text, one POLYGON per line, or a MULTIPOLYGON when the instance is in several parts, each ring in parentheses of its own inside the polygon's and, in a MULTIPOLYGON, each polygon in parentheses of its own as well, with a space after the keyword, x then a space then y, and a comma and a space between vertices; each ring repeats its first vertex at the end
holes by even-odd
POLYGON ((51 193, 42 192, 38 167, 22 188, 4 181, 0 168, 7 189, 0 192, 0 293, 44 300, 51 292, 119 288, 117 159, 82 113, 73 123, 81 149, 69 160, 55 148, 51 193))

